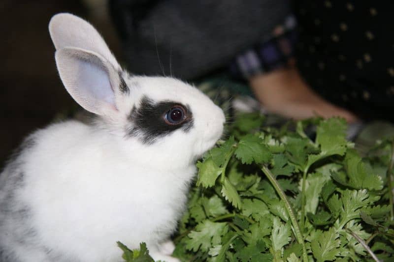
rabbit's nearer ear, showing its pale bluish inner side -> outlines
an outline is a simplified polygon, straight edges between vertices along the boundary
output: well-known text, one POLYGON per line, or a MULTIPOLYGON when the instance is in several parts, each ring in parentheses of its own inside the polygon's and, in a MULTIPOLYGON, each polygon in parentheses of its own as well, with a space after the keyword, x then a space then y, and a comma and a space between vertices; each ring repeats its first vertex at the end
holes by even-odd
POLYGON ((84 109, 97 115, 117 111, 111 83, 119 82, 114 68, 100 55, 65 48, 56 52, 56 64, 64 86, 84 109))

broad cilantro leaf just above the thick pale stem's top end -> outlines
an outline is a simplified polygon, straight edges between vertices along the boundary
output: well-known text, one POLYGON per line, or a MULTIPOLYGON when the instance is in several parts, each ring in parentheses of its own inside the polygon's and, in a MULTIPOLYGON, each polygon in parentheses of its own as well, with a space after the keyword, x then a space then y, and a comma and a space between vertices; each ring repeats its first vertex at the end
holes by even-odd
POLYGON ((271 158, 268 148, 263 145, 263 141, 252 134, 248 134, 239 141, 235 150, 235 155, 242 161, 242 164, 267 163, 271 158))

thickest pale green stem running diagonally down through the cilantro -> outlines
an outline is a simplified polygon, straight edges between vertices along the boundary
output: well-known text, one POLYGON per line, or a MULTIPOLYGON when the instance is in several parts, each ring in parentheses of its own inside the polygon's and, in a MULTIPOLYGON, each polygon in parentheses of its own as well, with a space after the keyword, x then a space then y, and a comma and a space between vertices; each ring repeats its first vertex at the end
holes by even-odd
POLYGON ((292 206, 290 205, 289 201, 286 198, 285 193, 283 192, 282 188, 278 184, 278 181, 276 181, 274 175, 272 175, 271 171, 269 171, 269 169, 264 165, 263 165, 262 170, 263 170, 263 173, 267 176, 267 178, 271 182, 272 186, 275 188, 280 199, 285 203, 286 210, 289 213, 290 220, 292 221, 292 224, 293 224, 294 232, 296 233, 297 242, 302 245, 302 259, 304 262, 308 262, 308 254, 306 252, 304 237, 302 236, 302 233, 299 229, 296 215, 294 214, 292 206))

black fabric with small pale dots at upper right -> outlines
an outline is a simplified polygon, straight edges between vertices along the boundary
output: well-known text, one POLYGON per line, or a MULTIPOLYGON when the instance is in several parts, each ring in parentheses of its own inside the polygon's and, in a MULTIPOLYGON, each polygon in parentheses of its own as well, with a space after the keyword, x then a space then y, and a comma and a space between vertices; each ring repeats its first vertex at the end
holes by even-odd
POLYGON ((394 1, 295 1, 302 77, 364 119, 394 121, 394 1))

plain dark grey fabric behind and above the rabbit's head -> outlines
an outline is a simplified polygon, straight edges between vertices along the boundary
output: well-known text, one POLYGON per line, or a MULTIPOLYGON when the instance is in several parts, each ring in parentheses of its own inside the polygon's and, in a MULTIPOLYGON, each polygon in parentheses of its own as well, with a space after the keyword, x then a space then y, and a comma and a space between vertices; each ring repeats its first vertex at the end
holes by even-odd
POLYGON ((128 69, 194 79, 272 36, 288 0, 110 0, 128 69))

